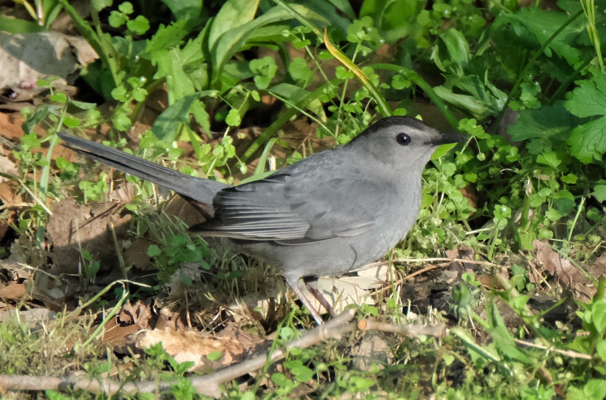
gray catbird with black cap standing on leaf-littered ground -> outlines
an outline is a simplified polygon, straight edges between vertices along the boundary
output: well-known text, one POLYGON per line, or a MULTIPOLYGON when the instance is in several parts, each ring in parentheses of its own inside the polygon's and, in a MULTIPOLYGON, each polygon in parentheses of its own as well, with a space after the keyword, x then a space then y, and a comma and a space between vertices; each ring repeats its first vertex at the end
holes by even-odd
POLYGON ((344 146, 230 187, 77 136, 59 136, 78 153, 191 202, 211 204, 210 219, 191 230, 229 238, 243 252, 279 267, 318 323, 321 316, 299 290, 299 279, 331 311, 315 285, 318 276, 341 275, 376 261, 404 239, 419 213, 425 164, 439 145, 464 139, 418 119, 392 116, 344 146))

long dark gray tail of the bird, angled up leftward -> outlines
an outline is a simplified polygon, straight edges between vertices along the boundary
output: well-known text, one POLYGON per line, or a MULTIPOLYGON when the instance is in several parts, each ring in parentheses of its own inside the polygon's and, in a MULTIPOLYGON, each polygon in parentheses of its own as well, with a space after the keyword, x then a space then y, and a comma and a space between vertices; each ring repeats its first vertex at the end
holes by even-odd
POLYGON ((68 135, 63 132, 58 133, 58 135, 63 140, 62 144, 65 147, 71 148, 77 153, 84 154, 89 158, 130 175, 138 176, 141 179, 145 179, 145 181, 174 190, 179 195, 204 204, 212 204, 213 198, 219 190, 230 187, 227 184, 211 181, 210 179, 185 175, 155 162, 147 161, 113 147, 82 139, 78 136, 68 135))

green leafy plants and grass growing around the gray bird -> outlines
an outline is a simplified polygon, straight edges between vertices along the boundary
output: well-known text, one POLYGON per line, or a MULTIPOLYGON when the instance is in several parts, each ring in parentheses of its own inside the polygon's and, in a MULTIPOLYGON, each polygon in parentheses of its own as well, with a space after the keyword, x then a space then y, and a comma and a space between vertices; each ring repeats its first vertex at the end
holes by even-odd
MULTIPOLYGON (((43 104, 22 112, 25 136, 13 151, 19 176, 9 178, 35 205, 21 212, 13 228, 38 250, 44 248, 51 204, 66 196, 101 201, 110 190, 107 169, 92 179, 76 162, 53 158, 55 132, 90 132, 107 124, 106 144, 131 151, 125 133, 158 90, 165 93, 165 108, 150 130, 141 132, 134 152, 230 184, 240 181, 255 159, 255 173, 263 173, 271 154, 278 155, 280 167, 313 152, 310 142, 293 145, 284 134, 297 118, 317 125, 318 138, 339 144, 387 115, 428 115, 430 125, 468 134, 454 150, 440 148, 426 168, 418 222, 394 250, 398 259, 424 259, 470 248, 473 261, 484 263, 449 288, 453 313, 460 317, 450 334, 442 340, 389 336, 390 362, 366 371, 351 367, 348 348, 354 339, 294 350, 283 367, 265 368, 244 392, 235 382, 227 385, 227 398, 606 396, 606 281, 592 269, 606 240, 601 50, 606 2, 536 1, 521 7, 516 0, 365 0, 354 10, 344 0, 92 1, 90 18, 67 0, 35 3, 47 10, 45 18, 36 17, 33 25, 13 20, 10 30, 48 29, 59 12, 67 13, 99 55, 81 77, 112 105, 101 112, 97 104, 57 90, 49 77, 38 81, 50 92, 43 104), (238 130, 256 125, 262 128, 255 137, 238 130), (36 135, 36 127, 47 135, 36 135), (179 161, 176 141, 187 142, 193 158, 179 161), (43 145, 46 155, 38 152, 43 145), (557 272, 541 271, 536 278, 537 241, 548 243, 587 278, 595 288, 591 295, 574 295, 574 284, 558 281, 557 272), (477 275, 493 281, 487 284, 477 275), (566 298, 562 290, 573 294, 566 298), (541 312, 529 305, 538 293, 554 299, 541 312), (497 304, 516 316, 515 322, 505 322, 497 304), (561 305, 568 307, 564 318, 547 318, 561 305)), ((202 265, 205 273, 215 274, 209 287, 231 295, 262 285, 264 266, 213 253, 182 225, 169 224, 168 217, 158 222, 154 218, 162 216, 155 215, 150 221, 147 199, 155 197, 155 189, 127 179, 135 183, 132 202, 125 206, 135 216, 130 238, 151 232, 147 256, 159 270, 149 287, 130 288, 132 299, 157 295, 183 263, 202 265)), ((102 266, 90 253, 83 258, 82 286, 88 287, 102 266)), ((130 267, 121 266, 128 275, 130 267)), ((181 282, 191 288, 188 279, 181 282)), ((95 299, 96 309, 122 304, 127 296, 122 290, 113 295, 95 299)), ((94 297, 84 293, 82 301, 94 297)), ((410 317, 407 301, 392 294, 359 313, 399 323, 410 317)), ((429 314, 422 321, 444 319, 435 309, 429 314)), ((277 341, 311 326, 295 305, 287 305, 281 316, 277 341)), ((73 333, 78 325, 66 321, 34 334, 24 324, 0 324, 0 374, 72 368, 98 376, 123 362, 130 363, 130 372, 118 368, 113 379, 162 379, 164 370, 179 377, 173 396, 198 398, 183 378, 190 365, 179 364, 160 347, 120 360, 89 342, 65 351, 78 336, 73 333), (41 343, 47 358, 39 354, 41 343)), ((247 322, 245 329, 274 332, 278 322, 265 322, 262 328, 247 322)), ((45 395, 95 397, 79 390, 45 395)))

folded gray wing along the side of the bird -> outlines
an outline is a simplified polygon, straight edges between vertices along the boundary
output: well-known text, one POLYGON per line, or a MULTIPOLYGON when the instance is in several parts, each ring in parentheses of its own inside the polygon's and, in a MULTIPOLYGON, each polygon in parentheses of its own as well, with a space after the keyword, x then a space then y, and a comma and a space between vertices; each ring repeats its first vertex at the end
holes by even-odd
POLYGON ((372 210, 383 207, 371 180, 295 179, 278 173, 261 181, 221 190, 215 218, 192 227, 202 236, 303 244, 356 236, 375 226, 372 210), (369 194, 375 199, 367 204, 369 194), (378 200, 377 200, 378 199, 378 200))

